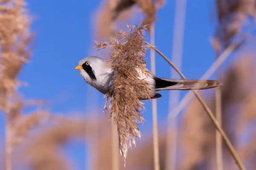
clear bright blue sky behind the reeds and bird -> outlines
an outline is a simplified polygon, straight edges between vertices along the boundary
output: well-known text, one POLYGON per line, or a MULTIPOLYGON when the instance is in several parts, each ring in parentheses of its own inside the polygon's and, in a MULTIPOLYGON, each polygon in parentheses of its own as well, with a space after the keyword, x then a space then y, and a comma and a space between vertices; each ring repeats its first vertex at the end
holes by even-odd
MULTIPOLYGON (((26 64, 19 78, 29 83, 20 91, 26 99, 47 99, 51 101, 52 113, 69 115, 87 114, 99 104, 103 108, 103 95, 87 85, 74 68, 79 60, 91 55, 93 26, 91 18, 99 0, 27 0, 30 14, 36 16, 32 30, 37 32, 31 62, 26 64), (88 100, 90 99, 90 101, 88 100)), ((175 1, 168 0, 157 11, 155 23, 155 45, 171 58, 175 1)), ((216 22, 211 22, 213 0, 193 0, 187 2, 186 26, 184 33, 182 72, 190 79, 198 79, 215 60, 215 53, 209 42, 216 22)), ((130 24, 130 23, 128 23, 130 24)), ((99 56, 102 57, 102 56, 99 56)), ((149 58, 149 56, 148 56, 149 58)), ((150 68, 150 61, 148 68, 150 68)), ((170 66, 156 55, 156 75, 169 77, 170 66)), ((215 77, 212 77, 215 78, 215 77)), ((169 92, 161 91, 163 97, 157 99, 159 122, 168 114, 169 92)), ((181 96, 187 91, 182 91, 181 96)), ((143 116, 145 125, 142 132, 151 130, 151 104, 145 102, 143 116)), ((106 116, 106 115, 101 115, 106 116)), ((0 139, 4 138, 3 116, 0 115, 0 139)), ((77 170, 84 168, 84 146, 72 143, 67 146, 77 170)))

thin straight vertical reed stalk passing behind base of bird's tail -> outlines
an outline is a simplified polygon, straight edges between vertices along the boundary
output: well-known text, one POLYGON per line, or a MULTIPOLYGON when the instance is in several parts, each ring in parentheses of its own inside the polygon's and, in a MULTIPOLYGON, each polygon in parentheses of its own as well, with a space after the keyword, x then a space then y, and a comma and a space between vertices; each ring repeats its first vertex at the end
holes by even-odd
MULTIPOLYGON (((150 43, 154 44, 154 23, 150 25, 150 43)), ((150 68, 151 73, 156 74, 155 51, 150 50, 150 68)), ((152 99, 152 122, 153 122, 153 148, 154 148, 154 170, 160 170, 159 164, 159 144, 158 144, 158 126, 157 126, 157 100, 152 99)))

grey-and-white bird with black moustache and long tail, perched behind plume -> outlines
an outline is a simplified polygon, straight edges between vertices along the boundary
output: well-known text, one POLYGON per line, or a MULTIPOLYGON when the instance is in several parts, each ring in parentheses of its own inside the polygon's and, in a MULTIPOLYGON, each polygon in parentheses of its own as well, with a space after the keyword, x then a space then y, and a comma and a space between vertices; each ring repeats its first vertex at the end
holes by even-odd
MULTIPOLYGON (((89 85, 102 94, 107 94, 111 90, 114 70, 107 65, 107 60, 96 56, 84 57, 75 69, 79 70, 79 74, 89 85)), ((161 94, 157 93, 160 90, 202 90, 217 88, 223 84, 217 80, 167 79, 157 77, 154 74, 146 75, 139 68, 136 68, 136 70, 139 75, 138 78, 147 81, 152 89, 150 99, 162 97, 161 94)), ((148 98, 145 96, 141 96, 139 99, 147 100, 148 98)))

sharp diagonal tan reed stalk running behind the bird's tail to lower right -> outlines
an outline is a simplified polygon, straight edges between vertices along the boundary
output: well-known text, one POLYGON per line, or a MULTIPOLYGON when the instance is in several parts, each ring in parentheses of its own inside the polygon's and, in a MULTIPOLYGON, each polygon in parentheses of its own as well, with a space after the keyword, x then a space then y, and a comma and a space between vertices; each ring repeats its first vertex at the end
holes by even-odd
MULTIPOLYGON (((148 44, 149 45, 149 44, 148 44)), ((153 48, 154 50, 156 50, 157 52, 159 50, 157 50, 157 48, 155 48, 152 45, 149 45, 151 48, 153 48)), ((175 71, 177 71, 178 74, 180 74, 180 77, 182 77, 183 79, 186 79, 186 77, 177 69, 177 67, 166 57, 163 55, 163 53, 161 53, 160 51, 158 52, 162 57, 164 57, 166 60, 168 60, 169 64, 175 69, 175 71)), ((215 116, 213 115, 212 111, 209 109, 209 107, 205 104, 205 102, 203 101, 203 99, 201 98, 201 96, 198 94, 197 91, 192 90, 193 93, 195 94, 196 98, 198 99, 198 101, 200 102, 200 104, 203 106, 204 110, 206 111, 207 115, 209 116, 210 120, 212 121, 213 125, 215 126, 215 128, 221 133, 221 136, 224 140, 224 142, 226 143, 231 155, 233 156, 234 160, 236 161, 238 167, 240 170, 245 170, 244 165, 241 162, 241 159, 239 158, 235 148, 233 147, 233 145, 231 144, 230 140, 227 138, 226 133, 224 132, 224 130, 221 128, 221 126, 219 125, 218 121, 216 120, 215 116)))

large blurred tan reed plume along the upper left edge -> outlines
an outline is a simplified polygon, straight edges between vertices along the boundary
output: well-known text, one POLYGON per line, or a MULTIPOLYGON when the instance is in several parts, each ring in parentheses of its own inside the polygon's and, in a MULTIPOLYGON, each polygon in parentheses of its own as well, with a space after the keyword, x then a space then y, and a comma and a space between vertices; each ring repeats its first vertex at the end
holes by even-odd
POLYGON ((30 57, 27 45, 33 37, 29 33, 30 21, 24 5, 23 0, 5 0, 0 3, 0 107, 8 119, 17 116, 10 113, 15 110, 12 106, 21 106, 20 98, 16 94, 20 84, 17 74, 30 57))

